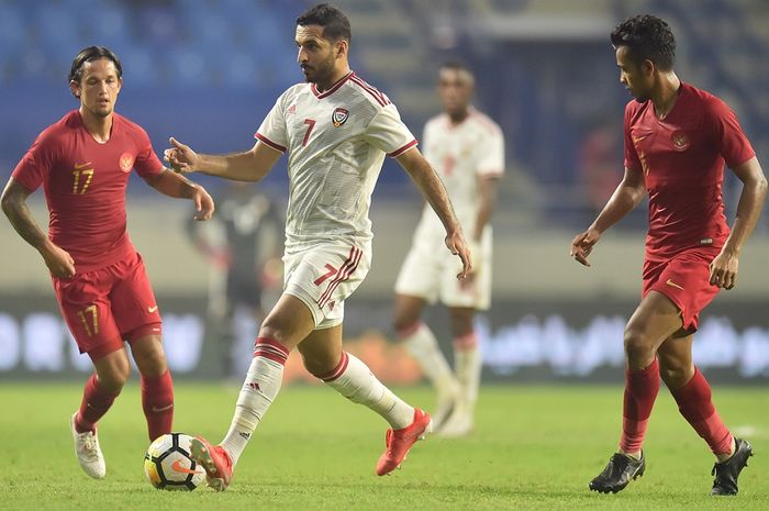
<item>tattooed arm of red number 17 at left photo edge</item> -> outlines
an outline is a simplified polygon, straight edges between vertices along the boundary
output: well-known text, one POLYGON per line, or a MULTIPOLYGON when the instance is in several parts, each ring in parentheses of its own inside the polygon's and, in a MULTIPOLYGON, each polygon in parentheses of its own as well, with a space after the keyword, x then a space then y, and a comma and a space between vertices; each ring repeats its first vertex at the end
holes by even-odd
POLYGON ((67 251, 48 240, 48 236, 37 226, 30 208, 26 205, 29 196, 30 191, 26 188, 13 178, 9 179, 2 191, 2 198, 0 198, 3 213, 11 221, 11 225, 19 235, 40 252, 54 277, 71 277, 75 275, 75 259, 67 251))

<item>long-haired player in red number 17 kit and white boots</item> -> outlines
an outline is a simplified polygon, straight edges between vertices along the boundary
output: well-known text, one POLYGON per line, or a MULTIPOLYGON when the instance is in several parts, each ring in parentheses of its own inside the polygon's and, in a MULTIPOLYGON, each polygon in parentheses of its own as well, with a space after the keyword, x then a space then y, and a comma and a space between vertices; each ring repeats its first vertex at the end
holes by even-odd
POLYGON ((164 168, 141 126, 114 112, 122 85, 122 67, 111 51, 82 49, 69 71, 79 109, 37 136, 0 199, 13 227, 43 257, 62 314, 80 353, 93 363, 70 426, 80 466, 97 479, 107 468, 96 424, 131 373, 123 341, 142 376, 149 438, 169 433, 174 418, 158 306, 125 230, 131 169, 160 193, 192 200, 198 220, 208 220, 214 209, 202 187, 164 168), (47 236, 26 205, 41 185, 49 212, 47 236))

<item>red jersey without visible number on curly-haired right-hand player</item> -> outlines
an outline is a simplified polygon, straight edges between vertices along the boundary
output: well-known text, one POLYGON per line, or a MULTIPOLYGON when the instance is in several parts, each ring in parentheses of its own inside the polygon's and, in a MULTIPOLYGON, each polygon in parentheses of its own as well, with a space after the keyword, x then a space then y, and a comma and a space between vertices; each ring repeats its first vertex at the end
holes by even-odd
POLYGON ((723 246, 729 234, 721 191, 731 168, 756 155, 737 116, 715 96, 681 84, 665 120, 650 100, 625 107, 625 167, 642 169, 649 193, 647 260, 696 246, 723 246))

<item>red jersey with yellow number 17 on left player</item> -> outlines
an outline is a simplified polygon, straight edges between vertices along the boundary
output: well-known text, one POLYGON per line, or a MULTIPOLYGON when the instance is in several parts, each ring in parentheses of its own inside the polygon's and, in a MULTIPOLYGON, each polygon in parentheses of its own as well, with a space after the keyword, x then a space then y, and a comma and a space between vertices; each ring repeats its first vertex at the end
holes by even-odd
POLYGON ((131 169, 163 171, 146 132, 116 113, 105 143, 74 110, 45 129, 12 177, 30 191, 41 185, 48 204, 48 237, 75 259, 77 273, 109 266, 134 247, 125 231, 125 188, 131 169))

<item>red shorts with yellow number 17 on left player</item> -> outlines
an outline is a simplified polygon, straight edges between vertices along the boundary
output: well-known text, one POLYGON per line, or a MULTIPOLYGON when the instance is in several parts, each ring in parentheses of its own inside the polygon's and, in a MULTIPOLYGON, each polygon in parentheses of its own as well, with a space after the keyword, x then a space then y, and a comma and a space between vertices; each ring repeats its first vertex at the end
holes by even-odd
POLYGON ((123 340, 161 333, 155 293, 135 251, 104 268, 69 279, 53 277, 53 281, 80 353, 88 353, 94 362, 121 349, 123 340))

